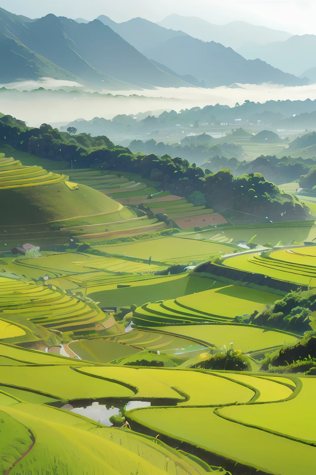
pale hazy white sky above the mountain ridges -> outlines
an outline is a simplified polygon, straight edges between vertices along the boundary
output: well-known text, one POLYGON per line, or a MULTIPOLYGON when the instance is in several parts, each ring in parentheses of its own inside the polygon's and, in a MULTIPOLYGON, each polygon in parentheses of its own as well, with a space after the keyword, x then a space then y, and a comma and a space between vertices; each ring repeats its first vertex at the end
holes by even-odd
POLYGON ((91 20, 103 14, 117 22, 134 17, 160 21, 178 13, 216 24, 245 20, 293 34, 316 34, 316 0, 0 0, 0 7, 31 18, 54 13, 91 20))

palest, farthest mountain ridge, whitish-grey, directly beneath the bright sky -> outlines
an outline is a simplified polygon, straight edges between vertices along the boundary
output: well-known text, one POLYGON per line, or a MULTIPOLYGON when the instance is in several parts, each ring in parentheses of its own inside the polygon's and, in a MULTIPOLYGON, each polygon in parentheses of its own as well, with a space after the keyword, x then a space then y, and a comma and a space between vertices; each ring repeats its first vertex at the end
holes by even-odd
POLYGON ((271 43, 271 41, 285 41, 292 36, 291 33, 286 31, 251 25, 245 21, 232 21, 227 25, 213 25, 198 17, 184 17, 177 14, 169 15, 158 22, 158 25, 164 28, 181 30, 193 38, 215 41, 233 49, 241 47, 249 41, 264 45, 271 43))

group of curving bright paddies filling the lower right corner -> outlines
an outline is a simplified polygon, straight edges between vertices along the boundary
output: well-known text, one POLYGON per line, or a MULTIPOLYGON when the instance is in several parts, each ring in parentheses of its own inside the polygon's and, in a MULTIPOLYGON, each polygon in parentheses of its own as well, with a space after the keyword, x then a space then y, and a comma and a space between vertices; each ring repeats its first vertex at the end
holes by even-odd
MULTIPOLYGON (((221 375, 236 380, 234 374, 226 372, 225 376, 223 373, 221 375)), ((314 425, 309 422, 304 424, 303 421, 307 421, 306 411, 310 413, 310 406, 305 398, 307 395, 311 397, 315 379, 307 381, 280 378, 278 381, 278 378, 271 380, 269 376, 264 379, 255 376, 245 378, 247 377, 238 377, 238 382, 243 381, 256 390, 256 397, 246 405, 234 404, 218 409, 153 407, 134 409, 126 415, 132 424, 149 428, 152 433, 167 435, 178 443, 183 441, 225 457, 231 461, 235 470, 238 470, 238 466, 248 466, 281 475, 313 471, 315 430, 314 425), (293 387, 293 382, 297 384, 294 392, 287 385, 282 388, 287 381, 290 387, 293 387), (261 391, 264 394, 263 400, 260 400, 261 391), (289 417, 293 410, 298 415, 297 425, 293 425, 293 420, 289 417), (257 422, 255 428, 254 420, 257 422), (206 427, 211 430, 206 430, 206 427), (256 450, 255 447, 265 447, 266 450, 256 450)))

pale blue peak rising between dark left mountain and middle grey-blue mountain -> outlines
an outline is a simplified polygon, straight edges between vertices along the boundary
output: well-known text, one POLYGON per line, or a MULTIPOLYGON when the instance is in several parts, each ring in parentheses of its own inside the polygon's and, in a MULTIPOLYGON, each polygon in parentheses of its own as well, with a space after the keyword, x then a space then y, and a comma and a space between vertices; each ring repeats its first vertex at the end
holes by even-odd
POLYGON ((116 23, 105 15, 100 15, 97 19, 102 21, 104 25, 109 26, 140 52, 158 46, 170 38, 186 35, 183 31, 163 28, 156 23, 139 17, 123 23, 116 23))

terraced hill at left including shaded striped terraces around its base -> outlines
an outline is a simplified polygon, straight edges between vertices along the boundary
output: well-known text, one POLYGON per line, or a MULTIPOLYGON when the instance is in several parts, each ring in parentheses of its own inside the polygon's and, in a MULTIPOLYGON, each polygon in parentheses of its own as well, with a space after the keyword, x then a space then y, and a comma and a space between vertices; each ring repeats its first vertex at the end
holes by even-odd
POLYGON ((144 212, 138 216, 106 194, 70 181, 63 172, 23 166, 3 154, 0 199, 6 203, 0 210, 0 238, 11 247, 20 239, 32 238, 41 245, 65 243, 70 230, 97 236, 103 231, 102 236, 108 230, 115 235, 120 229, 125 234, 127 229, 147 232, 166 228, 157 218, 148 219, 144 212))

